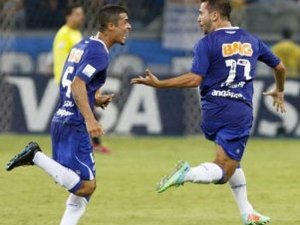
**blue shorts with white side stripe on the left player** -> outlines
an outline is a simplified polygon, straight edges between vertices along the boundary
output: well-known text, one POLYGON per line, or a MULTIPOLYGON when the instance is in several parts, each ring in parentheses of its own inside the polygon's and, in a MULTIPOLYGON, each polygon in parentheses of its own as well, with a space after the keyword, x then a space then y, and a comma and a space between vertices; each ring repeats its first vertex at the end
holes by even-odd
POLYGON ((85 129, 60 122, 51 123, 52 156, 73 170, 82 180, 95 178, 95 161, 89 134, 85 129))

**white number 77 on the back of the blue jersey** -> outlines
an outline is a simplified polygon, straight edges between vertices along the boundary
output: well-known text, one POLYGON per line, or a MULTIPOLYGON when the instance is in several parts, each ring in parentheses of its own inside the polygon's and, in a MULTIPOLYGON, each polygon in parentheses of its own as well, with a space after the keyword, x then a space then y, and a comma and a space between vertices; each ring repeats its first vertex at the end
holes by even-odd
POLYGON ((244 67, 244 77, 246 80, 252 79, 252 77, 250 76, 251 64, 250 64, 249 60, 247 60, 247 59, 238 59, 238 60, 227 59, 227 60, 225 60, 225 63, 226 63, 227 67, 230 67, 229 75, 228 75, 225 83, 231 83, 234 81, 234 79, 236 77, 237 66, 244 67))

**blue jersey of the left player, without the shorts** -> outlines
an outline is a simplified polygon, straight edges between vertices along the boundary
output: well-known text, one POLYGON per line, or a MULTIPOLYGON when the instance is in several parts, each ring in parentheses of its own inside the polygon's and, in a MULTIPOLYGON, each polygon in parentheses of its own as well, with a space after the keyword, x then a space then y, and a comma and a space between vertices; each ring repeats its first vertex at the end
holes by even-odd
POLYGON ((83 125, 84 118, 71 94, 71 83, 75 76, 85 83, 91 109, 95 105, 95 92, 104 84, 108 67, 108 49, 94 38, 76 44, 66 60, 60 83, 60 101, 53 121, 71 125, 83 125))

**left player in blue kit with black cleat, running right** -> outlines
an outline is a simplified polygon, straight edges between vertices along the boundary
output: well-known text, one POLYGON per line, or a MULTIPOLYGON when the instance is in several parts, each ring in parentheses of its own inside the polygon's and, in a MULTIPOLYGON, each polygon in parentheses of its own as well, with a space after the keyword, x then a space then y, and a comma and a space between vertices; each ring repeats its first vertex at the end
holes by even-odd
POLYGON ((99 12, 99 32, 76 44, 64 65, 60 101, 51 123, 53 159, 31 142, 8 164, 7 170, 36 165, 70 196, 61 225, 75 225, 96 188, 95 162, 90 137, 104 134, 95 119, 94 106, 105 108, 112 95, 101 95, 108 68, 108 49, 124 44, 131 25, 121 6, 106 6, 99 12))

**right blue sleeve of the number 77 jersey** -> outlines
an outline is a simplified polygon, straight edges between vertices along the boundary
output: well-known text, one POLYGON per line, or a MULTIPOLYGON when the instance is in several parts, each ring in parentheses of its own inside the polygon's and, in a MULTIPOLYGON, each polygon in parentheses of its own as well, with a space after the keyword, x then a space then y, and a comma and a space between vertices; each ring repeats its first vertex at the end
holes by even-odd
POLYGON ((261 40, 259 40, 259 57, 258 60, 274 68, 280 63, 280 59, 275 56, 271 49, 261 40))

